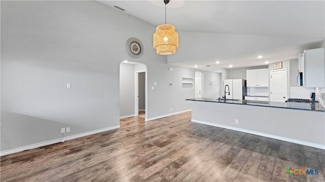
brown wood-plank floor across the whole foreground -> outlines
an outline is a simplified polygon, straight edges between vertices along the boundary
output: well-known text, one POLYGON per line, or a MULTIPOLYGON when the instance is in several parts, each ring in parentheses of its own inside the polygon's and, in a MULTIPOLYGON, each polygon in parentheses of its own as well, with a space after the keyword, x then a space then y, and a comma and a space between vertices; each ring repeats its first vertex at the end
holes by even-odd
POLYGON ((325 181, 325 150, 190 117, 125 118, 119 129, 3 156, 1 181, 325 181))

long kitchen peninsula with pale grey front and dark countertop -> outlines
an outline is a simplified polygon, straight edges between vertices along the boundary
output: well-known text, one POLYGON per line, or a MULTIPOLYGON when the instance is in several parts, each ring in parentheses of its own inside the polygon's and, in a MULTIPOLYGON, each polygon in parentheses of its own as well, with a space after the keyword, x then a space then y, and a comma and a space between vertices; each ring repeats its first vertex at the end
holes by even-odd
POLYGON ((318 103, 186 100, 192 101, 192 122, 325 149, 325 108, 318 103))

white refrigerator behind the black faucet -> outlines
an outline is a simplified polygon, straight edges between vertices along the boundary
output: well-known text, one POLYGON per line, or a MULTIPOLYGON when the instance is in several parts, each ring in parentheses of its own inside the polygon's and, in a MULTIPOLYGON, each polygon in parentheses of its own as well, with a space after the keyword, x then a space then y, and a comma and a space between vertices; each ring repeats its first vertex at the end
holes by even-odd
MULTIPOLYGON (((246 95, 246 80, 244 79, 225 79, 223 80, 223 93, 224 96, 224 86, 229 85, 229 92, 226 93, 226 99, 238 99, 243 100, 246 95)), ((225 88, 225 92, 228 92, 228 87, 225 88)))

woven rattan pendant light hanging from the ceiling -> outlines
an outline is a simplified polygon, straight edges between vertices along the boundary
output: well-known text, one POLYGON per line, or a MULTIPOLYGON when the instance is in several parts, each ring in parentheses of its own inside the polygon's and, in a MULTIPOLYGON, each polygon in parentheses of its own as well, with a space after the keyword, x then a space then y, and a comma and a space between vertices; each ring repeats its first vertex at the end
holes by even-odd
POLYGON ((165 3, 165 24, 158 25, 156 32, 153 34, 153 48, 156 49, 157 54, 171 55, 176 52, 178 48, 178 33, 175 31, 173 25, 166 24, 166 5, 165 3))

